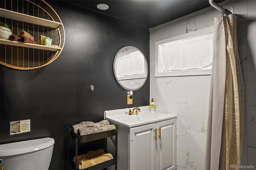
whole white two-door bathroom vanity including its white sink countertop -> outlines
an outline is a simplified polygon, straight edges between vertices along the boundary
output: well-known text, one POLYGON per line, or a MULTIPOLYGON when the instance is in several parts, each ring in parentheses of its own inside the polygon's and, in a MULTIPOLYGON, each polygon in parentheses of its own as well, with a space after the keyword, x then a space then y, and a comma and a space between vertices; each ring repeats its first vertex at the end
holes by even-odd
MULTIPOLYGON (((104 119, 118 131, 117 170, 175 170, 176 115, 139 108, 138 115, 129 115, 128 109, 104 111, 104 119)), ((107 150, 115 149, 108 139, 107 150)))

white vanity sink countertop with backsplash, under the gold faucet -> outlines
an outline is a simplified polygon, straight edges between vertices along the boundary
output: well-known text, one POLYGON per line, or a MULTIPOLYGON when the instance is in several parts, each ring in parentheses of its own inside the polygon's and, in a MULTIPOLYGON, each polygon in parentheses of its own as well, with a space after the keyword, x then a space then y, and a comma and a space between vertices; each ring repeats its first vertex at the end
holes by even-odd
MULTIPOLYGON (((176 118, 176 115, 160 112, 150 112, 149 106, 139 107, 141 111, 138 115, 128 115, 129 109, 116 109, 104 112, 104 119, 118 123, 126 127, 136 127, 176 118)), ((133 108, 131 108, 133 109, 133 108)))

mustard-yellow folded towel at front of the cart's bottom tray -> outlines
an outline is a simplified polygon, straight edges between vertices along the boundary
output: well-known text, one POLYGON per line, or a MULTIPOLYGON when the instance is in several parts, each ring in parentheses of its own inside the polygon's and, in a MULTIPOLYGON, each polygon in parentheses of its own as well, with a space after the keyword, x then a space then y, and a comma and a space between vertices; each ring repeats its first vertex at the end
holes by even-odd
POLYGON ((91 159, 86 159, 85 158, 84 160, 82 160, 78 164, 78 168, 79 169, 85 169, 85 168, 88 168, 90 166, 94 166, 96 164, 106 162, 106 161, 111 160, 111 159, 113 159, 113 156, 110 153, 105 153, 105 154, 102 154, 100 156, 97 156, 97 157, 94 157, 94 158, 91 158, 91 159))

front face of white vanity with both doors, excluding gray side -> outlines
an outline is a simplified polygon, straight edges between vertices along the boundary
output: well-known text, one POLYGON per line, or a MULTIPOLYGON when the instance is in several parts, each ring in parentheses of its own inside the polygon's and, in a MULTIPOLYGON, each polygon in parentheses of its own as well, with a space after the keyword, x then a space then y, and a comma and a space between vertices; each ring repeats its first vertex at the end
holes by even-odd
POLYGON ((176 169, 176 119, 130 128, 130 170, 176 169))

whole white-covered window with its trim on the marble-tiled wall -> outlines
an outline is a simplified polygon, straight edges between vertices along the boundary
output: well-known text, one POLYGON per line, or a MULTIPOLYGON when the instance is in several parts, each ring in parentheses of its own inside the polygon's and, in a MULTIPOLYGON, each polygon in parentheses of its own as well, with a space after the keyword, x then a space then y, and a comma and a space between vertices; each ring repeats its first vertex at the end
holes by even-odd
POLYGON ((156 77, 210 75, 214 27, 155 43, 156 77))

